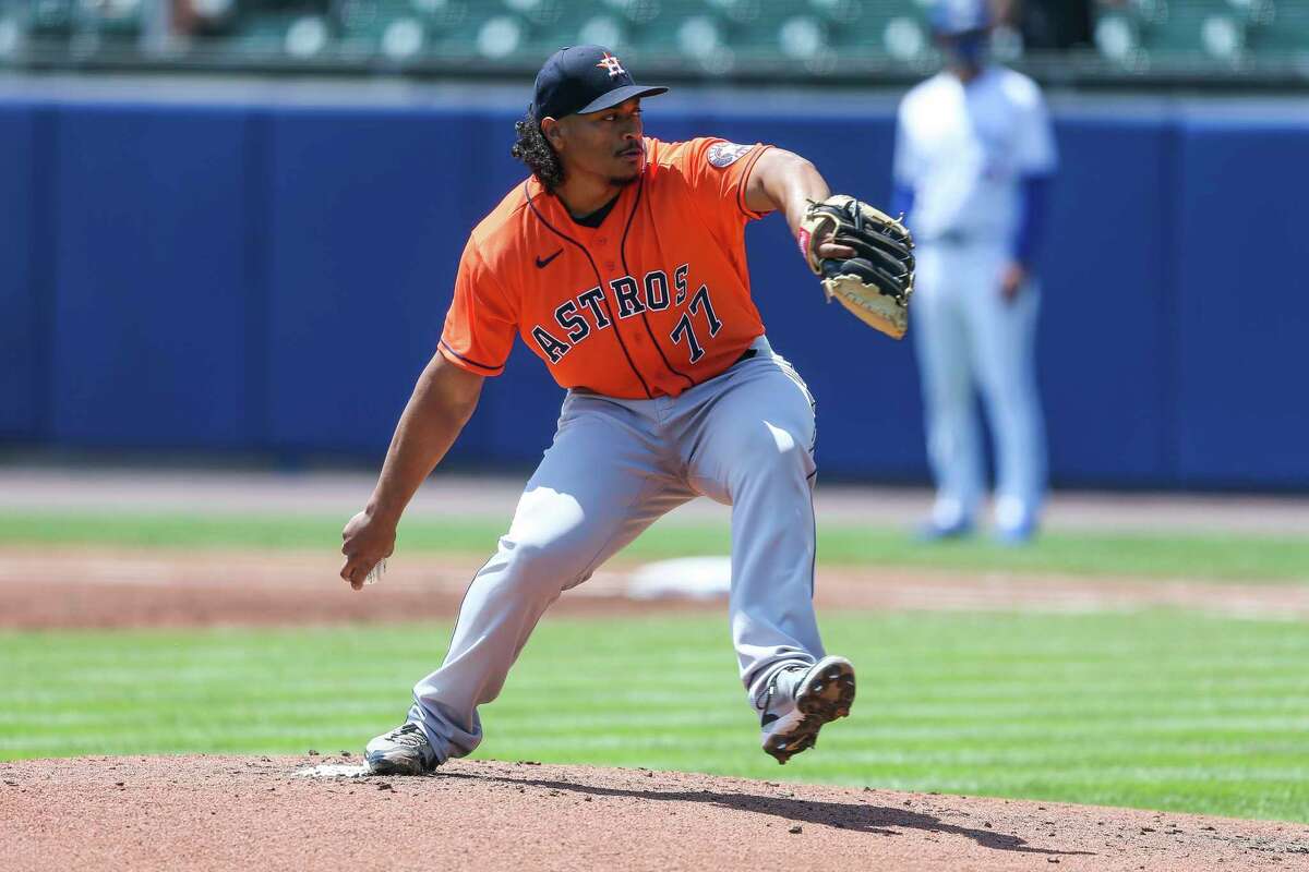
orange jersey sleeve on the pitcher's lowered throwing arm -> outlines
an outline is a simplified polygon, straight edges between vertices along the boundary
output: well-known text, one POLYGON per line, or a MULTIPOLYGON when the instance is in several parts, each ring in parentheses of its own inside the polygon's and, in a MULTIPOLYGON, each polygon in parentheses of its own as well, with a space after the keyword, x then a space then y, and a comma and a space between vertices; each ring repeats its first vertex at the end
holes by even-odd
POLYGON ((478 251, 478 237, 474 233, 463 247, 440 350, 448 361, 470 373, 499 375, 518 332, 518 315, 478 251))

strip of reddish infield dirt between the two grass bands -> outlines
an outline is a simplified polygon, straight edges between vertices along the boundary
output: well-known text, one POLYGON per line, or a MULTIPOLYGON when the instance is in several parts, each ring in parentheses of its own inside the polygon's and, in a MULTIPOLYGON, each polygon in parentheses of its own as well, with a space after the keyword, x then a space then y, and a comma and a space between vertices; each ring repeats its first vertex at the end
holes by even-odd
MULTIPOLYGON (((450 620, 479 558, 408 556, 382 582, 351 591, 334 554, 0 546, 0 629, 300 625, 450 620), (33 596, 33 591, 41 591, 33 596)), ((635 563, 611 561, 565 591, 550 616, 723 612, 724 600, 634 600, 635 563)), ((819 614, 836 609, 1124 612, 1183 608, 1309 620, 1309 587, 1187 579, 1073 578, 821 567, 819 614)))

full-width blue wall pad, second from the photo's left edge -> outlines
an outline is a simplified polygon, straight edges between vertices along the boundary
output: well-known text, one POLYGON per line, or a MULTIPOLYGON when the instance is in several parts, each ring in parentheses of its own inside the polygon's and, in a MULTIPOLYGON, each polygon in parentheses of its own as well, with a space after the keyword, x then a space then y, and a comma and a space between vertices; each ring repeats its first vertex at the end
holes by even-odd
POLYGON ((55 129, 51 435, 242 448, 242 110, 67 105, 55 129))

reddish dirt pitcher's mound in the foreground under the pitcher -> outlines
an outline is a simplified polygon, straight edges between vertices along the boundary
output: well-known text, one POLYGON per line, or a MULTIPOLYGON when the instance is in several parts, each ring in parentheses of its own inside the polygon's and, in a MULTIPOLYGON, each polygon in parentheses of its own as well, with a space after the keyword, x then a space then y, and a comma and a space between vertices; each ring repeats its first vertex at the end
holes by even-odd
POLYGON ((1295 824, 530 762, 302 774, 357 762, 0 763, 0 868, 1309 868, 1295 824))

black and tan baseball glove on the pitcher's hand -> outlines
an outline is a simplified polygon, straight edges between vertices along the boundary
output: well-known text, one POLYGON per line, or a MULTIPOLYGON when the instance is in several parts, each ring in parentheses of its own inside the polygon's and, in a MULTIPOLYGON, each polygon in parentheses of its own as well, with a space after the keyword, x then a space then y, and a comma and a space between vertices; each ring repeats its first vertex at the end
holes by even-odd
POLYGON ((905 336, 914 294, 914 238, 905 225, 836 193, 822 203, 810 201, 800 226, 800 247, 809 268, 822 277, 827 302, 835 297, 869 327, 894 339, 905 336), (819 258, 823 242, 853 248, 855 256, 819 258))

